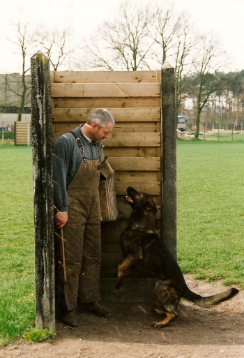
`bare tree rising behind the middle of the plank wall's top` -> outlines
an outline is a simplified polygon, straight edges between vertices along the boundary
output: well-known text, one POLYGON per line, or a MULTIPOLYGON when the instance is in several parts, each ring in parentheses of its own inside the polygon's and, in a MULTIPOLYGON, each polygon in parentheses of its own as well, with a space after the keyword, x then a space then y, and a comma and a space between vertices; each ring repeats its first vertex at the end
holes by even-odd
POLYGON ((133 71, 150 68, 153 41, 148 37, 148 25, 151 19, 148 6, 130 7, 129 1, 121 3, 119 15, 102 24, 96 40, 84 48, 89 66, 133 71))

